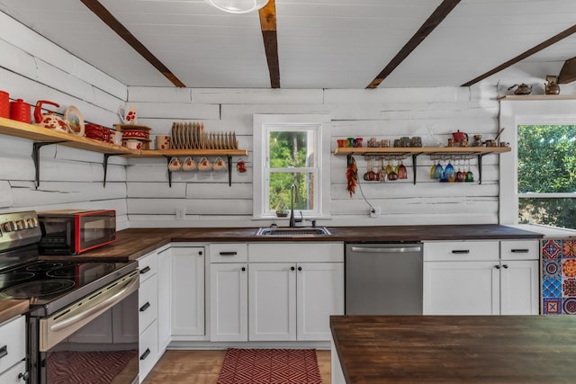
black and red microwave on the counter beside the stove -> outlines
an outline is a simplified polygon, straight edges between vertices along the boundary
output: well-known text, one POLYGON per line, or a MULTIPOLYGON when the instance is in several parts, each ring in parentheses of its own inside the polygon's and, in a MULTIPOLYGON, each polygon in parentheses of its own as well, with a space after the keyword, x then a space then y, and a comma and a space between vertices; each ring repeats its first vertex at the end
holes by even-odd
POLYGON ((116 241, 115 210, 46 210, 38 220, 42 255, 79 255, 116 241))

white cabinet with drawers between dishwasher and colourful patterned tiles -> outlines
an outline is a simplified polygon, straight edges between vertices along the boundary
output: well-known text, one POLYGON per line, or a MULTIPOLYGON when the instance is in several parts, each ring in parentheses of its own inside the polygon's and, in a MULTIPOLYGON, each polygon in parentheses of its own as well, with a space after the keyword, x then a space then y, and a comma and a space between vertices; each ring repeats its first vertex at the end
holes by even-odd
POLYGON ((424 245, 425 315, 536 315, 537 241, 424 245))

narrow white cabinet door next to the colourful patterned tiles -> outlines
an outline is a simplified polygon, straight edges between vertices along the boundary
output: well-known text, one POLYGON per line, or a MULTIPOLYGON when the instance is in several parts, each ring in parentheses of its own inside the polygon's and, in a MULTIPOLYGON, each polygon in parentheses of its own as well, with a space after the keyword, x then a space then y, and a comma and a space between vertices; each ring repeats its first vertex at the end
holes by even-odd
POLYGON ((540 310, 537 260, 503 261, 500 268, 502 315, 537 315, 540 310))

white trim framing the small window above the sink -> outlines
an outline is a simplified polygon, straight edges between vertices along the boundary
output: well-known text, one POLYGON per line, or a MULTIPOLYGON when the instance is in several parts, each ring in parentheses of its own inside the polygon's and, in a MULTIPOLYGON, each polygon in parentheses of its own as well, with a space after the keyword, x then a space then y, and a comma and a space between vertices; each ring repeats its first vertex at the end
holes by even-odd
MULTIPOLYGON (((252 212, 253 219, 276 219, 275 215, 264 215, 264 155, 266 152, 266 142, 262 138, 263 130, 267 125, 275 127, 279 125, 313 125, 319 127, 319 162, 320 180, 319 188, 319 208, 314 219, 327 218, 330 206, 330 136, 326 124, 329 123, 330 116, 326 114, 255 114, 253 120, 253 196, 252 212)), ((311 219, 311 218, 309 218, 311 219)))

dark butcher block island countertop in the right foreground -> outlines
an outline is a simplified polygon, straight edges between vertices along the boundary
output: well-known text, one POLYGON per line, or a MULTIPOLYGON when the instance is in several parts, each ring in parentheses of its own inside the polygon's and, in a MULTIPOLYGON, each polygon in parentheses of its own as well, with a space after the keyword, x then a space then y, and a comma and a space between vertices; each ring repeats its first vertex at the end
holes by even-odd
POLYGON ((347 383, 576 382, 573 316, 338 316, 330 327, 347 383))

